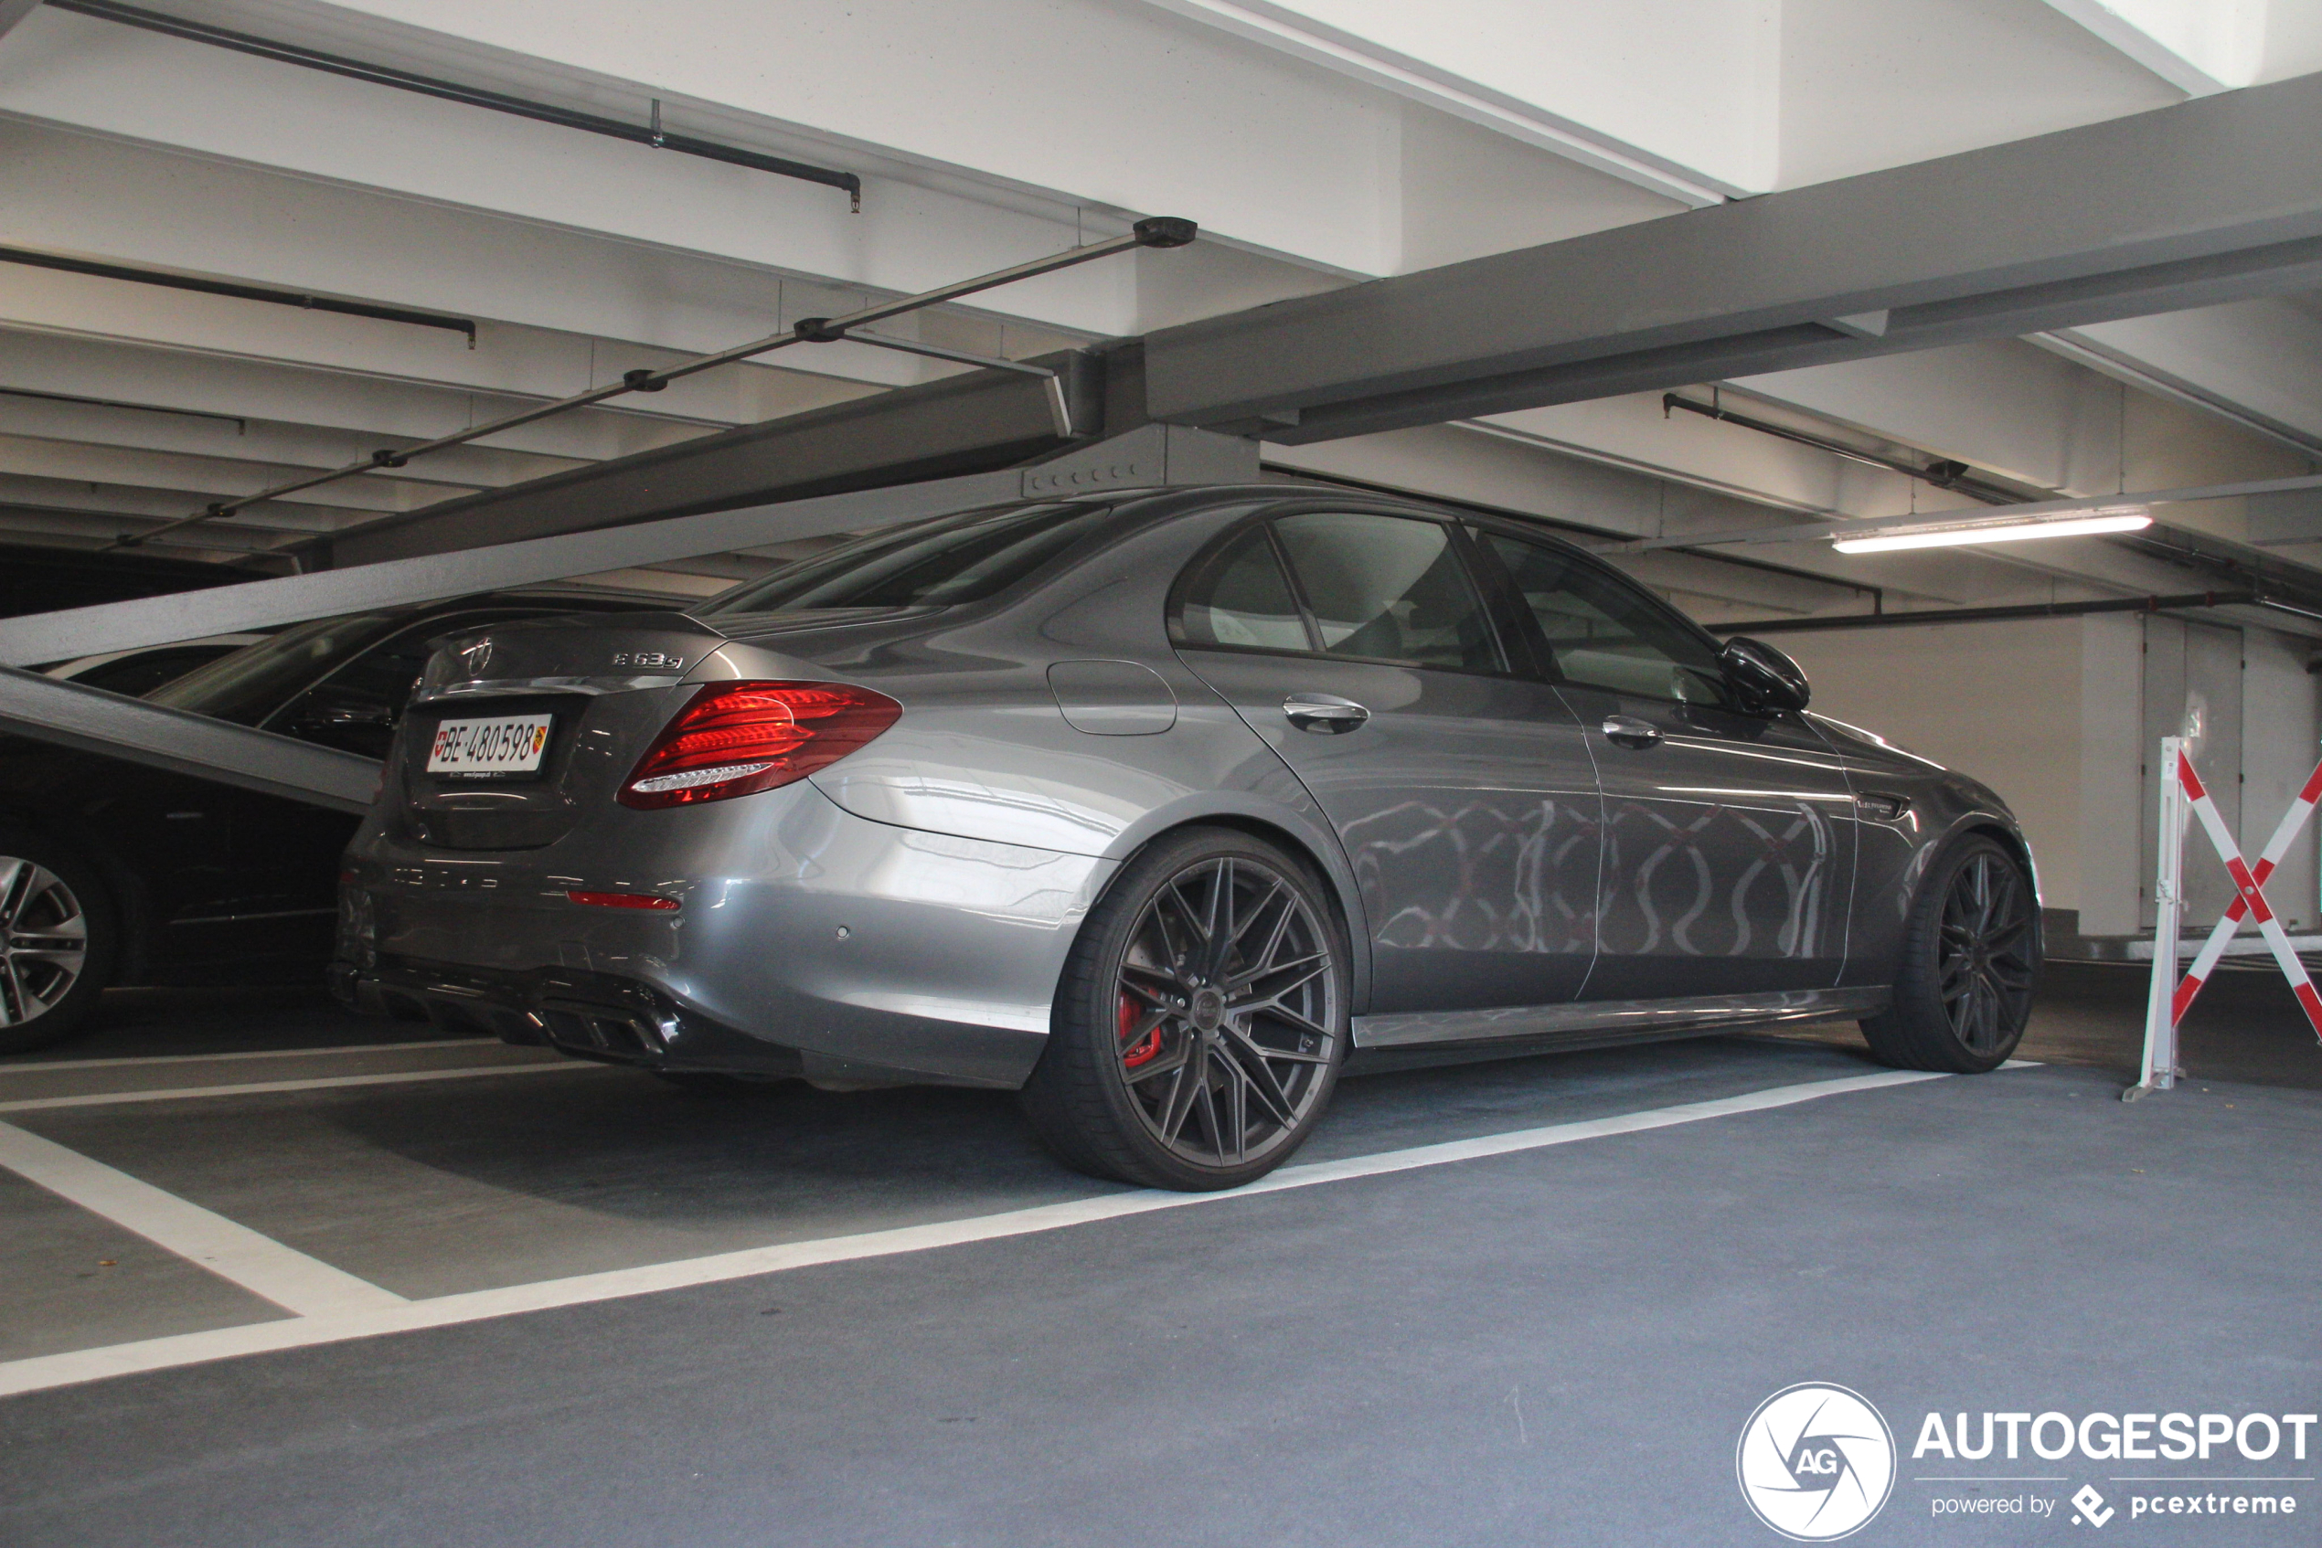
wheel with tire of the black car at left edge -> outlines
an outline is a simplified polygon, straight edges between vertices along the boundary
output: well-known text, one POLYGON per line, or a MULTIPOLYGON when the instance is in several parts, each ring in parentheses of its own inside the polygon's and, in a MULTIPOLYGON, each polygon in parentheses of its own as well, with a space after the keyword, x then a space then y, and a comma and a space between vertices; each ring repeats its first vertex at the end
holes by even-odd
POLYGON ((79 849, 0 829, 0 1054, 88 1026, 121 959, 121 910, 79 849))

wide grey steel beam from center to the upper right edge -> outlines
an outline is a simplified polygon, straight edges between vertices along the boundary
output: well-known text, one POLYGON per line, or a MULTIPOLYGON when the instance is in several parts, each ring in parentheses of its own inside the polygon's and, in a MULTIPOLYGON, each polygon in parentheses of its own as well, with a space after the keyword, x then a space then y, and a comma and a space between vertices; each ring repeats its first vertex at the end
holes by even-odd
POLYGON ((2315 144, 2322 74, 1277 302, 1149 334, 1147 411, 1331 441, 2306 288, 2315 144))

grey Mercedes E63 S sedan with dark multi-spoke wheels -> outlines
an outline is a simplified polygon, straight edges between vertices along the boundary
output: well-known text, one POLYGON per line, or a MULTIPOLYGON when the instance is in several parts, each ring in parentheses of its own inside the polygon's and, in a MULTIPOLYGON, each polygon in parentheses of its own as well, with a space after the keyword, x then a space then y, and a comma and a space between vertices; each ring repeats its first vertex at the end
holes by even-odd
POLYGON ((1015 1088, 1224 1188, 1363 1063, 1858 1019, 1990 1070, 2039 954, 2006 805, 1779 650, 1523 520, 1261 485, 439 641, 332 979, 680 1084, 1015 1088))

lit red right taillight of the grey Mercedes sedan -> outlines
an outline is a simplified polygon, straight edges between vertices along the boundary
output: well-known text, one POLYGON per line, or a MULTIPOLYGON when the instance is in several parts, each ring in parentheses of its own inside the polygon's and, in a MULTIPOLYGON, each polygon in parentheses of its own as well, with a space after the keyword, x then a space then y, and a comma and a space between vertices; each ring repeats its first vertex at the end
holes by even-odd
POLYGON ((901 712, 887 694, 845 682, 711 682, 662 726, 620 803, 650 810, 789 784, 854 752, 901 712))

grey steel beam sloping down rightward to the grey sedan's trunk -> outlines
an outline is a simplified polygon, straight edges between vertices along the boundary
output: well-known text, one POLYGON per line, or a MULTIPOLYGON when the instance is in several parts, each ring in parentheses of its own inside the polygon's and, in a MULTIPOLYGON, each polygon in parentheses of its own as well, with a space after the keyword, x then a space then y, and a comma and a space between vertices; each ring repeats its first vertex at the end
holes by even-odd
POLYGON ((378 789, 374 759, 16 668, 0 668, 0 729, 339 812, 378 789))

